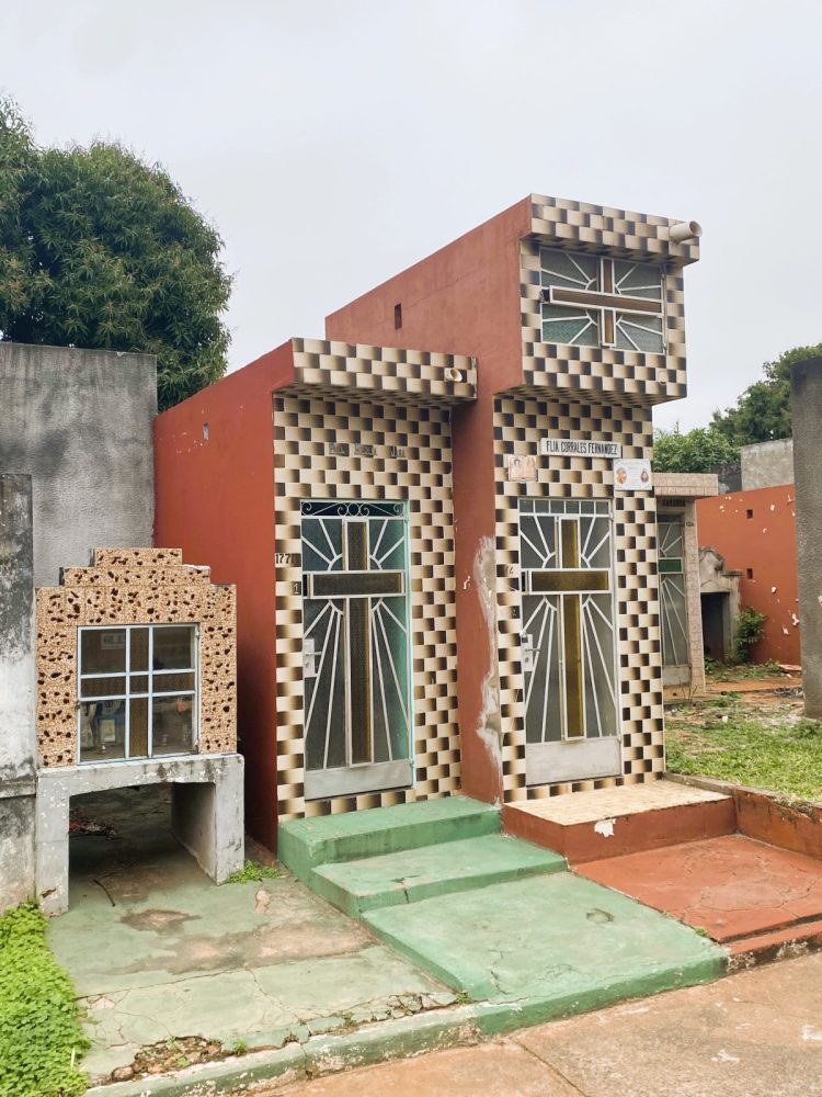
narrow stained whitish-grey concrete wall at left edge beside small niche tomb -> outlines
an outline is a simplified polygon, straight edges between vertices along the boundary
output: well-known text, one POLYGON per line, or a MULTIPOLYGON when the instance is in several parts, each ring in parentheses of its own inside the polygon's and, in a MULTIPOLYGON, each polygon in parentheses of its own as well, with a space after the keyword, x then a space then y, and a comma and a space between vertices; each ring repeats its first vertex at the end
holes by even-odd
POLYGON ((34 894, 32 482, 0 475, 0 912, 34 894))

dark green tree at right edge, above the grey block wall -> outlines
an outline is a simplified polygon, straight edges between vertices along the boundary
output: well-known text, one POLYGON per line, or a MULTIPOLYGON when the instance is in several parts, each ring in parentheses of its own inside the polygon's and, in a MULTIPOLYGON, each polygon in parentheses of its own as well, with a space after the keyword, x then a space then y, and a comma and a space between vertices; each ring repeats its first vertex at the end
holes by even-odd
POLYGON ((794 362, 820 355, 822 343, 817 343, 813 347, 794 347, 775 362, 765 362, 764 380, 749 385, 733 407, 715 411, 711 429, 734 445, 790 438, 790 366, 794 362))

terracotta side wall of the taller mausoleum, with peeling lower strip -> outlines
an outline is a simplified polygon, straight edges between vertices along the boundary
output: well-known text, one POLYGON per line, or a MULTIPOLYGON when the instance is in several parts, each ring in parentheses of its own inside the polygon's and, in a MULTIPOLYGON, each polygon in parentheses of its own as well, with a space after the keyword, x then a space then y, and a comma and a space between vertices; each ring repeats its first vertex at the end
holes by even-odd
POLYGON ((488 746, 494 734, 483 734, 493 720, 484 702, 489 676, 496 672, 487 615, 494 593, 483 599, 482 578, 489 561, 493 567, 493 394, 522 384, 520 240, 530 227, 528 196, 326 318, 329 339, 479 360, 478 400, 454 411, 454 513, 463 788, 489 802, 502 799, 501 758, 488 746))

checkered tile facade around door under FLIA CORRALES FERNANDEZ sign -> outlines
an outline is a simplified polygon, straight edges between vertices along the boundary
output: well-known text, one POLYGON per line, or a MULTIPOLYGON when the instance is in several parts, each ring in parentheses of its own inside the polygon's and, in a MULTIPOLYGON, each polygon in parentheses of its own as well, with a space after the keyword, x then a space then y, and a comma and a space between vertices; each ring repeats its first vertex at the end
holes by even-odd
POLYGON ((653 494, 615 494, 612 463, 605 459, 539 456, 537 483, 514 483, 506 476, 509 455, 537 453, 540 438, 548 433, 614 441, 623 446, 626 457, 650 457, 652 429, 650 407, 581 403, 541 394, 506 394, 494 400, 496 630, 506 802, 632 784, 657 778, 664 770, 653 494), (526 788, 518 577, 518 500, 523 496, 613 499, 623 736, 623 774, 618 778, 526 788))

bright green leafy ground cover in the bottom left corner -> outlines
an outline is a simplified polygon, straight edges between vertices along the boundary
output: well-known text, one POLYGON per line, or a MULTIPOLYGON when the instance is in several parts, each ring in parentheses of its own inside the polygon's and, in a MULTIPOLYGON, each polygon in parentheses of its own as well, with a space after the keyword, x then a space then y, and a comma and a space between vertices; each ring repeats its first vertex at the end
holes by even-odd
POLYGON ((71 980, 46 943, 36 903, 0 917, 0 1097, 78 1097, 89 1048, 71 980))

